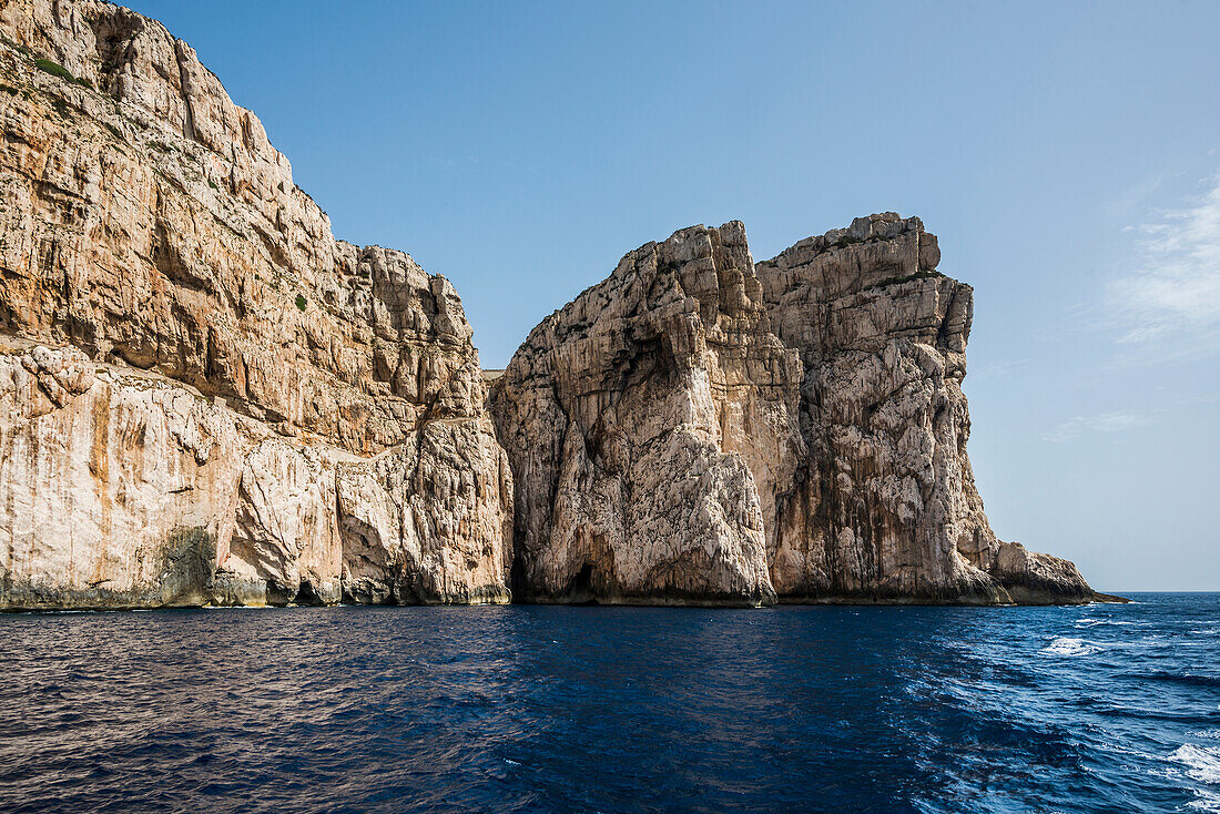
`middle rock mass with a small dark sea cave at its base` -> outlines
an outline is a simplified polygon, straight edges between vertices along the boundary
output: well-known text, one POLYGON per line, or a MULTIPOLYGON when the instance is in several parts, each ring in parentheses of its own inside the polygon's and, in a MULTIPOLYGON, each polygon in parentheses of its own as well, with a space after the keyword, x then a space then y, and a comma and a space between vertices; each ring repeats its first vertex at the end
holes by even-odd
POLYGON ((640 247, 529 334, 492 391, 520 596, 773 602, 767 531, 803 442, 800 360, 766 321, 727 223, 640 247))

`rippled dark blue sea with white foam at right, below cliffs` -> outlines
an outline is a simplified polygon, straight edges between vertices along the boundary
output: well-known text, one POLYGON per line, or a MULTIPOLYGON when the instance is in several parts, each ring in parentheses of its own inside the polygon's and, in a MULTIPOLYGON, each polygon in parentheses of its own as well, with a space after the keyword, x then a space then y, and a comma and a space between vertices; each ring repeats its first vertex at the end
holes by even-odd
POLYGON ((0 810, 1220 812, 1220 594, 0 616, 0 810))

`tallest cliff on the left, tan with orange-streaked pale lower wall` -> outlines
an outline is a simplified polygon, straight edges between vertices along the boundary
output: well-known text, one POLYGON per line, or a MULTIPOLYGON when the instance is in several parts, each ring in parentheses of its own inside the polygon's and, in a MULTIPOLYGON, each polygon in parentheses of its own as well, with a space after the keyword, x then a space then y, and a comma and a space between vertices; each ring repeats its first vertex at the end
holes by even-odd
POLYGON ((0 607, 505 600, 450 283, 334 240, 160 23, 10 0, 0 33, 0 607))

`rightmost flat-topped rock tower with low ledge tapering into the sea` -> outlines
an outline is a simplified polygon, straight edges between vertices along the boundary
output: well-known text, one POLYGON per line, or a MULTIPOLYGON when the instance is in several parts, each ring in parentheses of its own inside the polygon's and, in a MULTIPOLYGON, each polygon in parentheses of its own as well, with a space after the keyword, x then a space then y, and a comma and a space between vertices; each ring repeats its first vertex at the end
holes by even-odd
POLYGON ((1000 543, 966 455, 970 286, 893 212, 802 240, 756 273, 800 351, 808 458, 771 552, 792 599, 1052 602, 1092 591, 1064 560, 1000 543))

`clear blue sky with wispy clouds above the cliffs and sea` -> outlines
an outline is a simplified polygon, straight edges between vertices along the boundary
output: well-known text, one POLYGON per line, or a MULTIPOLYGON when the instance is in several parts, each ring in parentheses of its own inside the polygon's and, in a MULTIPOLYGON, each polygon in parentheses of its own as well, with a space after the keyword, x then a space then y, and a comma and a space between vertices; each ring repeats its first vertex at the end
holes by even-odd
POLYGON ((454 281, 488 367, 619 258, 919 215, 975 287, 1004 539, 1220 589, 1220 4, 132 1, 337 237, 454 281))

